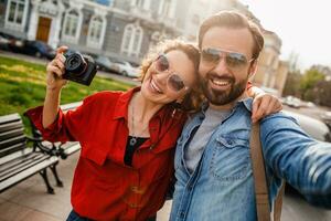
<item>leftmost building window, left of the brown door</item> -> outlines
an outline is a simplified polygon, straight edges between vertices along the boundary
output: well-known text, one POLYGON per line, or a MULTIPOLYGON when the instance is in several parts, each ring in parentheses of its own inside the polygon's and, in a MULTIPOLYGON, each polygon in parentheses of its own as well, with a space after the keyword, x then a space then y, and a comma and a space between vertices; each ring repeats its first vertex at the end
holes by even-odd
POLYGON ((26 20, 28 7, 28 0, 9 0, 6 13, 6 25, 22 30, 26 20))

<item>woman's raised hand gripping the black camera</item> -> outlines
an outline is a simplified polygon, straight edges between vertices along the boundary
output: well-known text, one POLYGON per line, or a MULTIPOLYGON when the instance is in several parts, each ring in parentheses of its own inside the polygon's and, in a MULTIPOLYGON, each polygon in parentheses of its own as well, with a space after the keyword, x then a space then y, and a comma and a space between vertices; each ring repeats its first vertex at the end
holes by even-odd
POLYGON ((62 78, 64 74, 64 62, 65 57, 63 52, 67 50, 67 46, 60 46, 56 50, 56 56, 46 66, 46 84, 47 90, 61 90, 65 84, 66 80, 62 78))

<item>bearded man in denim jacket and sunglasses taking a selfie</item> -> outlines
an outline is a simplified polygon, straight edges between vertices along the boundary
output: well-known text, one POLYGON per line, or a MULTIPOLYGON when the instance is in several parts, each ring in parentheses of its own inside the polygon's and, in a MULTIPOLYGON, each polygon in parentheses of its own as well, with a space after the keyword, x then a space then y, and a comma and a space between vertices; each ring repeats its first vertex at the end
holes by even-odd
MULTIPOLYGON (((254 23, 235 12, 206 19, 199 33, 200 77, 209 104, 177 146, 170 220, 256 220, 249 155, 252 98, 245 86, 264 46, 254 23)), ((331 144, 310 138, 282 113, 260 120, 270 202, 281 178, 317 206, 331 208, 331 144)))

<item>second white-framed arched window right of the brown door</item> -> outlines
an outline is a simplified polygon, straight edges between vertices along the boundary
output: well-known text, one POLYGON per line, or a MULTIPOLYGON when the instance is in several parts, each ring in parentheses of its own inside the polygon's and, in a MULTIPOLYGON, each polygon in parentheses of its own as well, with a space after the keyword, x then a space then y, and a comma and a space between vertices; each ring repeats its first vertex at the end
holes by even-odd
POLYGON ((102 48, 104 42, 104 35, 106 30, 106 20, 102 17, 92 17, 88 34, 87 34, 87 45, 93 48, 102 48))

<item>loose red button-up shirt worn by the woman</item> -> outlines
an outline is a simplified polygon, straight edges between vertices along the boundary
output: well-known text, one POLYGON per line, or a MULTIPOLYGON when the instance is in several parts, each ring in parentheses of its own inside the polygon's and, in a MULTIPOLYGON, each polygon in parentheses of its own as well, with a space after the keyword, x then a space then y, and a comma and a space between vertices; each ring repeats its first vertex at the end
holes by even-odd
POLYGON ((124 162, 128 138, 128 103, 139 87, 100 92, 76 110, 58 112, 47 128, 42 108, 28 115, 50 141, 78 140, 82 146, 72 186, 72 204, 94 220, 146 220, 157 213, 173 175, 173 156, 186 116, 164 106, 149 123, 150 138, 124 162))

